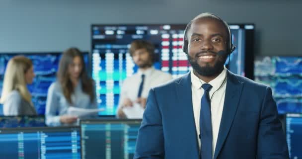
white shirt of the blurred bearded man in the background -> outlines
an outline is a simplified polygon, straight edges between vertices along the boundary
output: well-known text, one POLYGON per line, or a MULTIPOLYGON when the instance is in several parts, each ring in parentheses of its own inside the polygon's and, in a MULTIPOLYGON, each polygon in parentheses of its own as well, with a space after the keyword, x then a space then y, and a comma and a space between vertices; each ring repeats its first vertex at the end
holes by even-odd
POLYGON ((124 80, 120 92, 119 107, 121 107, 123 101, 126 98, 131 99, 131 101, 137 100, 143 74, 145 75, 145 79, 141 96, 142 98, 148 97, 148 93, 151 87, 165 83, 172 79, 172 76, 170 74, 155 70, 154 67, 151 67, 144 71, 139 69, 136 74, 124 80))

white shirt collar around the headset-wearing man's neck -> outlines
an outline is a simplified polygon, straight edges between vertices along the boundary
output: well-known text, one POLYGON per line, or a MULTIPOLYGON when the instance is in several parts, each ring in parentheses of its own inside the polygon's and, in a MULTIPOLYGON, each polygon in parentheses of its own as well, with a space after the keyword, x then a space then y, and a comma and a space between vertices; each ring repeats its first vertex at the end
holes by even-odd
MULTIPOLYGON (((196 75, 194 75, 193 73, 193 69, 191 69, 191 82, 192 85, 194 87, 194 89, 200 89, 202 83, 206 83, 205 81, 203 81, 202 79, 199 79, 196 75)), ((209 82, 209 84, 211 84, 213 86, 213 88, 211 90, 217 90, 221 84, 224 82, 225 78, 227 76, 227 68, 224 66, 224 70, 222 71, 222 73, 220 73, 218 75, 218 77, 216 77, 215 79, 211 80, 209 82)))

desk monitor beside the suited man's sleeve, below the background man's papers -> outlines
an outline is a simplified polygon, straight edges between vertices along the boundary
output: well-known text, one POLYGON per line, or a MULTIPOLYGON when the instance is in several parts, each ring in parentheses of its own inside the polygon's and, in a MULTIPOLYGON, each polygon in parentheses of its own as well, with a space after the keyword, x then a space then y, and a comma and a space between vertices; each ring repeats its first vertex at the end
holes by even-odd
POLYGON ((82 120, 82 159, 133 159, 141 120, 82 120))

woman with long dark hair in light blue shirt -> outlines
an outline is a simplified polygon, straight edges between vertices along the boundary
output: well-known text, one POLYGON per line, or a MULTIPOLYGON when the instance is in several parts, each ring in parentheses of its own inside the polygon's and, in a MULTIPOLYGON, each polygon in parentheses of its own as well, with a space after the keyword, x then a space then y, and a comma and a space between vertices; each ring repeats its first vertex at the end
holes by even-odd
POLYGON ((77 117, 68 109, 97 108, 93 79, 85 69, 82 53, 77 48, 67 49, 60 60, 57 81, 53 82, 46 100, 46 124, 60 126, 74 124, 77 117))

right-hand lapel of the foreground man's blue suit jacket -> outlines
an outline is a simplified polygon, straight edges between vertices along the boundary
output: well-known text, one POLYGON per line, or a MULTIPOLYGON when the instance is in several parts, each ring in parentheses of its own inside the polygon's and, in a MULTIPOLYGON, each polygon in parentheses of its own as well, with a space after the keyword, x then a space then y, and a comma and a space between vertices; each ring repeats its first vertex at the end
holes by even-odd
POLYGON ((232 73, 227 71, 227 88, 225 103, 218 133, 216 149, 214 153, 214 159, 217 159, 224 145, 224 142, 227 139, 229 129, 233 123, 233 119, 238 107, 242 86, 243 83, 239 82, 238 79, 232 73))

